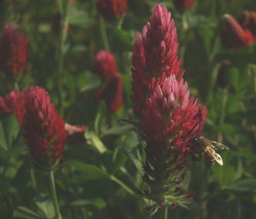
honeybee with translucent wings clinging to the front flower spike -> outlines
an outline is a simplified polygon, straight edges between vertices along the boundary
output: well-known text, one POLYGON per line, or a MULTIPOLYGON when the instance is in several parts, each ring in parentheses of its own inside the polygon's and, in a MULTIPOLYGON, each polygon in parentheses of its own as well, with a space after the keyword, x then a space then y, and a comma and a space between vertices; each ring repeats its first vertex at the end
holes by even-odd
POLYGON ((215 161, 220 165, 223 165, 221 156, 217 154, 215 150, 217 149, 228 150, 229 148, 226 145, 221 144, 219 142, 211 141, 204 136, 195 137, 193 138, 192 142, 193 142, 192 150, 195 153, 204 155, 204 163, 206 168, 212 167, 215 161))

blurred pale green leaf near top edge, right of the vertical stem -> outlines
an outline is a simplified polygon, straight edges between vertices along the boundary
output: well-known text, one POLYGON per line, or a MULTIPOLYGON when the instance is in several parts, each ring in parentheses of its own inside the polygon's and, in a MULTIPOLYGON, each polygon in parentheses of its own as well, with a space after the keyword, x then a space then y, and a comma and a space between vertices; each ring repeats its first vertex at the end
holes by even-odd
POLYGON ((70 5, 68 8, 68 23, 82 28, 88 28, 94 21, 89 17, 86 11, 78 10, 76 5, 70 5))

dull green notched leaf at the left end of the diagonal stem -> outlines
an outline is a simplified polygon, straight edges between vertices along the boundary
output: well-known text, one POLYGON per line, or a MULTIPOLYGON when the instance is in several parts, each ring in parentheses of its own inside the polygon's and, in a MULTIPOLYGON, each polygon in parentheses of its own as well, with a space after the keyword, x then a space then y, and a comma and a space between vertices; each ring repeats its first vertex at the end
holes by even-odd
POLYGON ((74 164, 74 167, 79 173, 72 178, 74 183, 84 183, 91 180, 103 180, 109 178, 108 172, 96 165, 85 164, 79 161, 73 161, 72 164, 74 164))

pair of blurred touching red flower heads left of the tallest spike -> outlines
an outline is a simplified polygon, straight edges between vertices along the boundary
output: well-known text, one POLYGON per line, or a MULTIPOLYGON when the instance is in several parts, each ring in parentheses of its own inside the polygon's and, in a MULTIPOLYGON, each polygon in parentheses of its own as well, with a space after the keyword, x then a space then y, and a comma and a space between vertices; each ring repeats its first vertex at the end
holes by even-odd
POLYGON ((107 105, 108 113, 111 114, 123 105, 123 78, 116 69, 113 54, 100 51, 95 57, 94 70, 104 83, 104 87, 97 91, 95 99, 103 99, 107 105))

